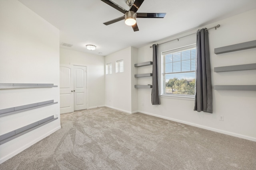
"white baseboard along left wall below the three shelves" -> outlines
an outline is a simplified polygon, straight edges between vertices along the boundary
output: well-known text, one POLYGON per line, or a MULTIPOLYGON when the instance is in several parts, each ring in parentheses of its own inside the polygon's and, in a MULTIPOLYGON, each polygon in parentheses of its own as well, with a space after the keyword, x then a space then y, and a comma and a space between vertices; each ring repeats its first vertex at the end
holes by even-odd
POLYGON ((16 154, 22 152, 23 150, 27 149, 28 147, 34 145, 35 143, 37 143, 38 141, 41 141, 42 139, 44 139, 45 137, 48 137, 50 134, 54 133, 55 131, 59 130, 61 128, 61 126, 56 127, 55 129, 52 129, 51 131, 49 131, 48 133, 38 137, 37 139, 35 139, 34 141, 31 141, 30 143, 20 147, 19 149, 15 150, 14 152, 6 155, 5 157, 0 159, 0 164, 2 164, 4 161, 12 158, 13 156, 15 156, 16 154))

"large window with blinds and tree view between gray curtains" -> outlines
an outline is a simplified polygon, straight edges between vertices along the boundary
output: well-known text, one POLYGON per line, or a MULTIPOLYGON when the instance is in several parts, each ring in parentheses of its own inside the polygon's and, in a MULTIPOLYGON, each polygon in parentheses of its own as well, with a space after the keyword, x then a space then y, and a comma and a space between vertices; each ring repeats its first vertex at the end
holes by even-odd
POLYGON ((194 97, 196 45, 162 52, 161 63, 162 94, 194 97))

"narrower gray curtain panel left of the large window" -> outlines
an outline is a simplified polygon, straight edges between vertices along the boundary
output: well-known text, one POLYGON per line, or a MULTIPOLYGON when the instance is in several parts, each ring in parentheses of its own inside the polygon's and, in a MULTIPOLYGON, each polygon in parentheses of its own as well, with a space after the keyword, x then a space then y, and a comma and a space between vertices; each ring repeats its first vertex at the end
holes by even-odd
POLYGON ((157 47, 158 45, 153 44, 153 72, 152 72, 152 93, 151 103, 160 104, 159 88, 158 88, 158 64, 157 64, 157 47))

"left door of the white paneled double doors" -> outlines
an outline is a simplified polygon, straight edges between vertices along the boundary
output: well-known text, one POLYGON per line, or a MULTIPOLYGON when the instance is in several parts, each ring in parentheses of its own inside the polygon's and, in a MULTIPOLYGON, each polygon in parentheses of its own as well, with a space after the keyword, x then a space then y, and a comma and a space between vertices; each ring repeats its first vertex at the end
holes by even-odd
POLYGON ((60 64, 60 113, 74 111, 73 66, 60 64))

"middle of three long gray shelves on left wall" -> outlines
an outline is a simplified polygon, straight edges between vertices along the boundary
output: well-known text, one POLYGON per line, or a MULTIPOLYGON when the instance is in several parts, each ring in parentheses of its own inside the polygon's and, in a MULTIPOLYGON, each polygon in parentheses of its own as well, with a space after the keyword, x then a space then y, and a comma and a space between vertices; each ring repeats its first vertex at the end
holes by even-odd
POLYGON ((57 104, 57 103, 58 102, 54 102, 54 100, 48 100, 48 101, 39 102, 39 103, 33 103, 33 104, 27 104, 27 105, 23 105, 23 106, 1 109, 0 117, 12 115, 15 113, 20 113, 20 112, 28 111, 28 110, 32 110, 32 109, 37 109, 37 108, 44 107, 44 106, 50 106, 52 104, 57 104))

